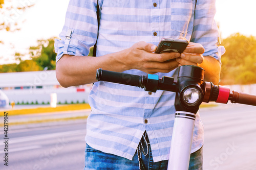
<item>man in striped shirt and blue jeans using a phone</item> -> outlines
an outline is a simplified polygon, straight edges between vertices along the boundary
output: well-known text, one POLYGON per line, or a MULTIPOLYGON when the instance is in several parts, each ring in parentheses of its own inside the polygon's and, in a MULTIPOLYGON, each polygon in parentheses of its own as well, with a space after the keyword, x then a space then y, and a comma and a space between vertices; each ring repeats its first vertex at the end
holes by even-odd
MULTIPOLYGON (((98 5, 99 30, 97 0, 71 0, 61 40, 55 41, 59 83, 94 83, 84 169, 166 169, 175 93, 97 82, 96 69, 173 77, 180 65, 198 65, 205 69, 205 81, 217 84, 221 47, 215 1, 99 0, 98 5), (190 42, 182 54, 154 54, 163 37, 190 42), (97 57, 88 57, 96 39, 97 57)), ((197 114, 189 169, 202 169, 202 146, 203 125, 197 114)))

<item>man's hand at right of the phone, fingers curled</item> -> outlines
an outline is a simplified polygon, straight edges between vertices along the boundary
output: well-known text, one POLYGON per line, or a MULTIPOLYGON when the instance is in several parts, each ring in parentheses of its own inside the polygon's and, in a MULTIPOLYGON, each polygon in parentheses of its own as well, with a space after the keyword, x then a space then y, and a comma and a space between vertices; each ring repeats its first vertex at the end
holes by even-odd
POLYGON ((199 43, 189 42, 185 51, 181 53, 180 57, 176 59, 181 65, 196 65, 203 63, 204 57, 204 47, 199 43))

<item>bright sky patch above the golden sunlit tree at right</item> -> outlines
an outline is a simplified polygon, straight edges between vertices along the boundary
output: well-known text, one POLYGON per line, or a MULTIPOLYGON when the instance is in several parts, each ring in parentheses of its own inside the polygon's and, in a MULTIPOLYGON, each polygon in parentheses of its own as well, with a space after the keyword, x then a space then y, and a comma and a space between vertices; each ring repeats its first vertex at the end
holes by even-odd
POLYGON ((222 38, 240 32, 256 36, 256 1, 216 0, 215 20, 219 23, 222 38))

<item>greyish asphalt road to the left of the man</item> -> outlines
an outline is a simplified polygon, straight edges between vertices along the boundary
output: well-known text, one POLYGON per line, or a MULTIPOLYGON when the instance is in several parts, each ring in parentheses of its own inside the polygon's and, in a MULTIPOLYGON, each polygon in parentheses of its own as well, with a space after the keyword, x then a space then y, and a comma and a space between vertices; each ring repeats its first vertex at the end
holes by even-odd
MULTIPOLYGON (((83 169, 86 122, 14 130, 9 133, 8 166, 0 143, 0 169, 83 169)), ((1 139, 3 139, 1 134, 1 139)))

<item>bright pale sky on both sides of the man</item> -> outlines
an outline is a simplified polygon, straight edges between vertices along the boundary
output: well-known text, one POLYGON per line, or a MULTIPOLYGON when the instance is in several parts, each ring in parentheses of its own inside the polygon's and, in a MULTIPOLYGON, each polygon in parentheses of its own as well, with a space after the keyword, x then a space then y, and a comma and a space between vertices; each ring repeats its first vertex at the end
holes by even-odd
MULTIPOLYGON (((35 6, 16 17, 17 21, 25 20, 20 24, 20 31, 0 32, 0 39, 5 42, 4 45, 0 45, 0 64, 16 62, 15 52, 26 54, 30 46, 37 45, 38 39, 58 37, 65 22, 69 0, 17 0, 17 2, 31 2, 35 3, 35 6)), ((255 6, 256 1, 252 0, 216 0, 215 20, 220 26, 222 38, 237 32, 256 36, 255 6)), ((25 56, 22 59, 29 57, 25 56)))

